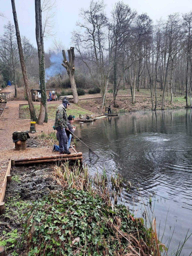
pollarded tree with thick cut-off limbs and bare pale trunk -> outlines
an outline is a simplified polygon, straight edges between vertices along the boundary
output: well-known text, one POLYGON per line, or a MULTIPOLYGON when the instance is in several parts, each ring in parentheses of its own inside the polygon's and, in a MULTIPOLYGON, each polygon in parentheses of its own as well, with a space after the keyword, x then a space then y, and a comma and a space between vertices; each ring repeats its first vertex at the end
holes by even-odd
POLYGON ((77 94, 77 87, 74 79, 74 74, 75 74, 75 54, 74 54, 74 47, 71 47, 68 52, 68 57, 69 61, 66 58, 65 50, 62 50, 63 54, 63 63, 61 64, 63 67, 66 68, 68 76, 69 76, 69 81, 71 84, 71 90, 73 93, 73 100, 75 104, 79 104, 79 98, 77 94))

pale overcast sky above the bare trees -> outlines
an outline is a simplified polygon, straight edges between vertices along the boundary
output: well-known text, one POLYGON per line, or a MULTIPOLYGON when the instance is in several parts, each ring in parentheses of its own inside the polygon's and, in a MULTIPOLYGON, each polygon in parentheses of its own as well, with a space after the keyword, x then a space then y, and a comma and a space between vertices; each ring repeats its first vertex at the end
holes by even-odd
MULTIPOLYGON (((107 5, 105 12, 109 16, 115 4, 115 0, 104 0, 107 5)), ((192 0, 124 0, 138 14, 147 13, 154 21, 159 18, 166 19, 167 15, 180 12, 186 13, 192 10, 192 0)), ((55 38, 62 40, 66 48, 70 47, 71 33, 76 28, 81 8, 89 6, 89 0, 56 0, 55 7, 55 38)), ((6 18, 0 18, 0 34, 3 34, 3 26, 10 20, 14 24, 11 0, 0 0, 1 10, 6 18)), ((15 0, 20 34, 30 39, 36 47, 35 39, 35 3, 34 0, 15 0)), ((45 50, 52 44, 53 38, 44 41, 45 50)))

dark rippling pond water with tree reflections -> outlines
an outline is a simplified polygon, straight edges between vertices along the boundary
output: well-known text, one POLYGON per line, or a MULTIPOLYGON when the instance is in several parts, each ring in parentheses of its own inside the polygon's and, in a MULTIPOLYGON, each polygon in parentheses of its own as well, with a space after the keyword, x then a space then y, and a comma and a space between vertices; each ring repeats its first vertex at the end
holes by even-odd
MULTIPOLYGON (((185 239, 188 229, 192 232, 191 120, 191 109, 142 111, 79 124, 76 130, 76 135, 100 156, 90 158, 87 147, 78 142, 91 172, 96 168, 102 172, 104 165, 109 179, 118 170, 134 185, 129 193, 124 189, 122 200, 134 214, 138 205, 137 217, 144 211, 143 202, 151 212, 149 196, 156 194, 152 208, 157 224, 161 222, 160 237, 164 228, 164 243, 173 234, 169 251, 185 239)), ((192 247, 192 236, 185 247, 192 247)), ((191 251, 184 249, 181 255, 191 251)))

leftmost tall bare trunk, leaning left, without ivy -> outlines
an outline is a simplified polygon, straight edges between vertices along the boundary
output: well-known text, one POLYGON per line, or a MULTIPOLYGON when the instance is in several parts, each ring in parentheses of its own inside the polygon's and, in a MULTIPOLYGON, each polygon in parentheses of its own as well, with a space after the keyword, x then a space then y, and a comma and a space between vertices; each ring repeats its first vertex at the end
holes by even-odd
POLYGON ((31 116, 32 120, 36 121, 37 118, 36 118, 36 114, 35 114, 35 108, 33 105, 33 101, 31 98, 31 92, 30 92, 30 88, 29 88, 29 82, 28 82, 25 61, 24 61, 24 56, 23 56, 23 51, 22 51, 19 25, 18 25, 17 13, 16 13, 16 9, 15 9, 15 0, 11 0, 11 4, 12 4, 12 10, 13 10, 14 23, 15 23, 17 44, 18 44, 18 49, 19 49, 19 58, 20 58, 20 63, 21 63, 21 68, 22 68, 22 73, 23 73, 23 79, 24 79, 24 83, 25 83, 27 100, 28 100, 28 104, 29 104, 30 116, 31 116))

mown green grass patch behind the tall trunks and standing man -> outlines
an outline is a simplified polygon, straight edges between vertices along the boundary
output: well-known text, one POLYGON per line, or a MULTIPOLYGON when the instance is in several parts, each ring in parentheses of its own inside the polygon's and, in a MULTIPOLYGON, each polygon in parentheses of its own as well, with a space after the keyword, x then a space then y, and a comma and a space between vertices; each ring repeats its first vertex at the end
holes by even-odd
MULTIPOLYGON (((48 109, 48 119, 55 119, 55 113, 57 110, 57 107, 60 103, 50 103, 47 105, 48 109)), ((40 105, 34 104, 36 115, 39 115, 40 111, 40 105)), ((74 115, 75 117, 79 117, 80 114, 82 115, 90 115, 92 112, 89 110, 86 110, 84 108, 81 108, 75 104, 71 104, 69 108, 67 109, 67 115, 74 115)), ((29 112, 29 106, 28 105, 20 105, 19 106, 19 118, 21 119, 30 119, 30 112, 29 112)))

